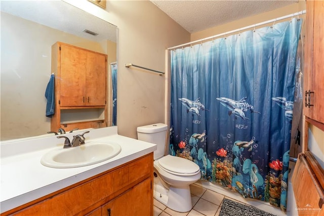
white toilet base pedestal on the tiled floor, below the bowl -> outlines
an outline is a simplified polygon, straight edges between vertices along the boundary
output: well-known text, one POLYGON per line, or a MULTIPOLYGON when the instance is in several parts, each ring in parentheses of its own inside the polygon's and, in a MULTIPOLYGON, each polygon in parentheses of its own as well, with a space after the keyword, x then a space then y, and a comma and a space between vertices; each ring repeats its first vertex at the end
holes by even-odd
POLYGON ((172 210, 179 212, 187 212, 192 208, 190 187, 166 188, 159 177, 154 178, 153 196, 159 202, 168 206, 172 210))

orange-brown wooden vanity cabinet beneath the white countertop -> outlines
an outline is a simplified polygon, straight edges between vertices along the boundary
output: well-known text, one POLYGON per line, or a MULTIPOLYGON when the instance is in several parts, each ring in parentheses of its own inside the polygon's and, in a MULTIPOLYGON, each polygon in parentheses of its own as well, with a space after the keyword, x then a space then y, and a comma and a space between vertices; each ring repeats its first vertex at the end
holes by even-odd
POLYGON ((2 215, 153 215, 153 153, 2 215))

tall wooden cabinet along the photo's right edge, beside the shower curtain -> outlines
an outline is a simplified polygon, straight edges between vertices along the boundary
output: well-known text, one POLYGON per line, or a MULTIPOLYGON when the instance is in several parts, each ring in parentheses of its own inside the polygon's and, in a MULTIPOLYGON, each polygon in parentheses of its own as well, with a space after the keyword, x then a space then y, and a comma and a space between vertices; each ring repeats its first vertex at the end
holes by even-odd
MULTIPOLYGON (((324 170, 308 149, 309 124, 324 131, 324 1, 306 1, 303 153, 292 177, 300 215, 324 215, 324 170)), ((319 143, 321 145, 321 143, 319 143)))

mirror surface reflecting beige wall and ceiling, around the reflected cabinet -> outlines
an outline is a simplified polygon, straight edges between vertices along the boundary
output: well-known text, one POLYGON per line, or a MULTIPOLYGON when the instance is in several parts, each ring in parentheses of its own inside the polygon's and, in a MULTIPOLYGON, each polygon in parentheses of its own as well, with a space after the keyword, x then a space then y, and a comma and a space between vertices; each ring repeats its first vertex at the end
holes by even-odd
POLYGON ((45 90, 51 76, 51 47, 58 41, 108 55, 107 126, 115 125, 111 65, 116 67, 112 63, 116 62, 117 27, 62 1, 0 3, 1 140, 51 130, 51 119, 45 116, 45 90))

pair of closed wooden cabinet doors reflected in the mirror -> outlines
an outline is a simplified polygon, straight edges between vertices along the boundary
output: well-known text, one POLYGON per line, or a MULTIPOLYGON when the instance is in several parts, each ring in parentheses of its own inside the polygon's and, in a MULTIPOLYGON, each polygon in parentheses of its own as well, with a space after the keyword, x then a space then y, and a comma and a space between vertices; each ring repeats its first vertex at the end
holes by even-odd
POLYGON ((60 105, 105 105, 106 55, 64 44, 60 49, 60 105))

